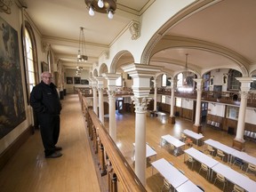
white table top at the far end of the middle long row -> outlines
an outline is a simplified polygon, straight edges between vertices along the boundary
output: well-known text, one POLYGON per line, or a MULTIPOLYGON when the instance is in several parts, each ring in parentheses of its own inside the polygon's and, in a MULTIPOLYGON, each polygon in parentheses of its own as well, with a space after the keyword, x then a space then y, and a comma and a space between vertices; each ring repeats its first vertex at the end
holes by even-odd
POLYGON ((196 148, 188 148, 184 150, 189 156, 192 156, 196 161, 206 164, 208 167, 212 168, 215 164, 219 164, 219 161, 216 161, 211 156, 207 156, 204 153, 198 151, 196 148))

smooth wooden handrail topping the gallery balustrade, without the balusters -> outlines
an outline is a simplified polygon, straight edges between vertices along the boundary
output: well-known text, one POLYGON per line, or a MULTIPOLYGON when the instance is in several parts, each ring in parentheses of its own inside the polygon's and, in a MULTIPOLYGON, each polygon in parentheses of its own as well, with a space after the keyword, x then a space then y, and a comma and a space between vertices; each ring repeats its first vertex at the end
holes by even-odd
POLYGON ((123 190, 127 192, 147 191, 146 188, 141 184, 136 174, 133 172, 131 166, 125 160, 119 148, 117 148, 116 143, 114 140, 112 140, 106 128, 103 126, 103 124, 101 124, 98 116, 94 113, 93 109, 87 105, 86 98, 82 96, 81 92, 78 92, 78 94, 79 98, 82 99, 80 100, 83 108, 86 108, 85 111, 89 113, 89 116, 92 119, 92 124, 96 128, 96 132, 100 137, 104 150, 108 154, 108 158, 116 172, 117 180, 120 181, 123 190))

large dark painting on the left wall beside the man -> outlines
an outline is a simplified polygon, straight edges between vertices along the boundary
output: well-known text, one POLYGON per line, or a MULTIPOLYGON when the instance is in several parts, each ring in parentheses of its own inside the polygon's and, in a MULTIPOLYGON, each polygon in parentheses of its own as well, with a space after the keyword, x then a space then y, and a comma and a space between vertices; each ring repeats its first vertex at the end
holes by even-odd
POLYGON ((0 17, 0 140, 25 119, 18 33, 0 17))

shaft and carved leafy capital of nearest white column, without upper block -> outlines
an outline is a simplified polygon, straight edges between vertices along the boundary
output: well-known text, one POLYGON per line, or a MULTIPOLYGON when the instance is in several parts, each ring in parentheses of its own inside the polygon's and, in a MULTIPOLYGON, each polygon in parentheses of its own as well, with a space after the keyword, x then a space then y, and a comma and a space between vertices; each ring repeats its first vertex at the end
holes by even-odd
POLYGON ((146 185, 146 119, 148 102, 151 99, 132 97, 135 104, 135 173, 146 185))

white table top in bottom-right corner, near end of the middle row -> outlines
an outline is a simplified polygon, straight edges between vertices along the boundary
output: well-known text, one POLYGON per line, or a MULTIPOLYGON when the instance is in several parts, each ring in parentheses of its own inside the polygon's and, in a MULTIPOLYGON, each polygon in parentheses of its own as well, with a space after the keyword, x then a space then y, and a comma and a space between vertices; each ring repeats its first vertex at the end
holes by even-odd
POLYGON ((236 172, 225 164, 216 164, 212 167, 214 172, 219 172, 227 180, 230 180, 232 183, 244 188, 246 191, 254 192, 256 189, 256 182, 250 178, 245 177, 240 172, 236 172))

